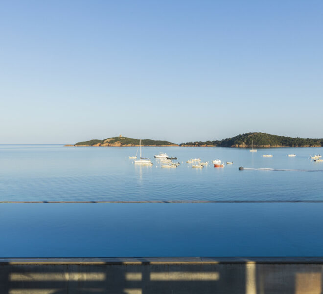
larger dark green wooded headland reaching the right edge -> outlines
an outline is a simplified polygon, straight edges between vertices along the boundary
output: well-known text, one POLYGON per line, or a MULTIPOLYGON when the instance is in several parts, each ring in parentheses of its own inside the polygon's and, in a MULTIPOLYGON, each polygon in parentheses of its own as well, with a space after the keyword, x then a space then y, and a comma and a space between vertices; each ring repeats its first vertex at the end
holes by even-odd
POLYGON ((183 147, 239 147, 251 148, 254 141, 254 148, 260 147, 322 147, 323 139, 304 139, 277 136, 266 133, 245 133, 232 138, 205 142, 187 142, 179 146, 183 147))

